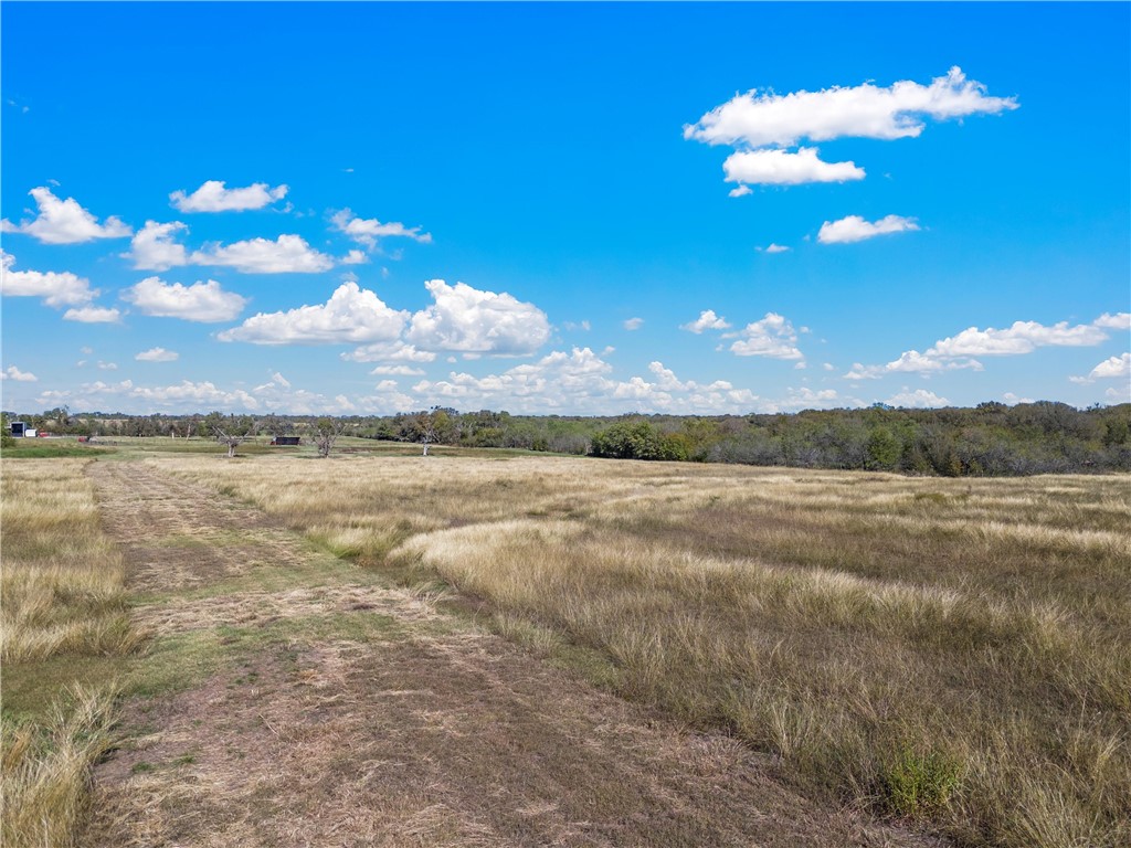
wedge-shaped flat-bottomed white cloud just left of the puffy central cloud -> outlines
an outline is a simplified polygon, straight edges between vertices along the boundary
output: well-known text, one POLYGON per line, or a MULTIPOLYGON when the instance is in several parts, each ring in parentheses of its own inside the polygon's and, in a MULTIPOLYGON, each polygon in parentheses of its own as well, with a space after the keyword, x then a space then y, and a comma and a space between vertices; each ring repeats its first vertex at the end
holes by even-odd
POLYGON ((373 292, 349 280, 317 306, 287 312, 260 312, 239 327, 224 330, 221 341, 256 345, 333 345, 394 341, 400 336, 407 313, 390 309, 373 292))

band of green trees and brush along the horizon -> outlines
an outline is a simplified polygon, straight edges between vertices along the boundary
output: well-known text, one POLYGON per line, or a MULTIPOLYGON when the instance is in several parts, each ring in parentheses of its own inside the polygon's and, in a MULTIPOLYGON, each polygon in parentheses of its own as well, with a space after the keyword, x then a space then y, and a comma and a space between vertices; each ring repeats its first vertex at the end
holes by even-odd
MULTIPOLYGON (((58 409, 25 421, 85 435, 211 438, 223 424, 261 436, 305 435, 311 416, 74 415, 58 409)), ((338 418, 343 434, 467 448, 731 462, 916 475, 1020 476, 1131 470, 1131 404, 1076 409, 1039 401, 975 408, 806 410, 793 415, 618 417, 528 416, 434 408, 338 418)))

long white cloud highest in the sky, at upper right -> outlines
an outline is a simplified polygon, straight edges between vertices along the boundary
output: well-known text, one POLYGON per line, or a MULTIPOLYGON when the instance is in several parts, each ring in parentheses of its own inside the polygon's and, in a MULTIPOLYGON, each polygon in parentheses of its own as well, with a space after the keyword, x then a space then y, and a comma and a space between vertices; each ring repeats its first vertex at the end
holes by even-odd
POLYGON ((923 118, 998 114, 1017 106, 1013 97, 987 96, 984 85, 968 80, 956 67, 929 86, 900 80, 888 88, 865 83, 785 95, 750 90, 684 127, 683 137, 751 147, 792 147, 802 139, 896 139, 918 136, 923 118))

